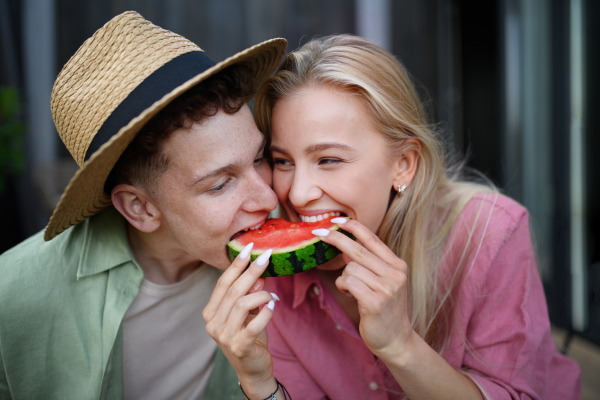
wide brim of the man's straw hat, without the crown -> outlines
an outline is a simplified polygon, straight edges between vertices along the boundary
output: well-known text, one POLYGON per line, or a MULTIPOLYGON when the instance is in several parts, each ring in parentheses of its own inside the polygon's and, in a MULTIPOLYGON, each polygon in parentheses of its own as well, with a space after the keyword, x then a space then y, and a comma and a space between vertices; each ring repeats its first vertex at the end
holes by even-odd
POLYGON ((258 88, 279 66, 286 45, 285 39, 278 38, 241 51, 176 87, 133 118, 75 173, 46 226, 44 240, 53 239, 111 204, 110 197, 104 193, 104 184, 110 171, 139 130, 171 101, 201 81, 237 63, 245 63, 254 71, 258 88))

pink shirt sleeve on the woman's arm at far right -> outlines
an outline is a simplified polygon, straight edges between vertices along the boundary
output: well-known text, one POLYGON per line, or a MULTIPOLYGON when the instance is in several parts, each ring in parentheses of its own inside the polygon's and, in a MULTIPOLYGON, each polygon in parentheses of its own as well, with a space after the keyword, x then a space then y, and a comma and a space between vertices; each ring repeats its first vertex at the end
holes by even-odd
MULTIPOLYGON (((508 230, 475 297, 466 330, 465 373, 484 398, 547 399, 549 381, 564 376, 553 376, 558 374, 551 369, 555 345, 527 213, 508 230)), ((573 367, 574 362, 567 366, 571 377, 573 367)))

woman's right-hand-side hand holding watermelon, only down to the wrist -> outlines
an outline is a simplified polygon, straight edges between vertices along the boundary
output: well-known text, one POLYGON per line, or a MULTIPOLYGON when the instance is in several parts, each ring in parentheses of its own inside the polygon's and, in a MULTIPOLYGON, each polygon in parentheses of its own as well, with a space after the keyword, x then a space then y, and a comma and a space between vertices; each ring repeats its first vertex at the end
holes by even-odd
POLYGON ((357 239, 336 231, 313 231, 343 252, 347 265, 335 284, 357 300, 359 331, 369 350, 383 360, 398 357, 413 334, 408 316, 407 265, 360 222, 346 218, 332 222, 357 239))

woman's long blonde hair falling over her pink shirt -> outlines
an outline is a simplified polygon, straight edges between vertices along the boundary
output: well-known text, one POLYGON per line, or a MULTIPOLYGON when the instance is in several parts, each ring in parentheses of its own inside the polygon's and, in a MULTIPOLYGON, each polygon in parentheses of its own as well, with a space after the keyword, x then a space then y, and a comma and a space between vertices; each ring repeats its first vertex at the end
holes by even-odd
POLYGON ((450 333, 452 291, 460 270, 457 266, 450 279, 438 279, 442 250, 456 216, 473 194, 486 187, 460 182, 461 168, 445 166, 442 142, 428 123, 404 66, 360 37, 314 39, 289 54, 257 94, 254 111, 259 129, 270 138, 277 101, 319 85, 358 95, 373 126, 389 140, 392 154, 409 148, 419 153, 417 172, 405 194, 397 196, 390 188, 392 200, 377 234, 408 264, 413 328, 442 351, 450 333))

